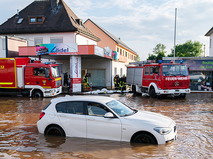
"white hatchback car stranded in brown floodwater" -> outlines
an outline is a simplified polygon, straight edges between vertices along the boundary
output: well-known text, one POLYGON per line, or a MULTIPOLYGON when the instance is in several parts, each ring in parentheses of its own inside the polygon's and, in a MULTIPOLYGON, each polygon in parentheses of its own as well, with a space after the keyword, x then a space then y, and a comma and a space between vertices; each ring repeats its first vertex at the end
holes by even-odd
POLYGON ((41 111, 37 127, 45 135, 145 144, 165 144, 176 140, 177 135, 172 119, 103 96, 52 99, 41 111))

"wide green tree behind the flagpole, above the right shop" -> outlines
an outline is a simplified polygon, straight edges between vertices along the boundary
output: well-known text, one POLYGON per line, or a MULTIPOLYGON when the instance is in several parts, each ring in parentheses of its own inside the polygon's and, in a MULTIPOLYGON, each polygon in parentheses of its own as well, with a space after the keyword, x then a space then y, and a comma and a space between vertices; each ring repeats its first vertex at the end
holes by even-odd
MULTIPOLYGON (((176 45, 175 47, 175 57, 198 57, 203 53, 202 44, 198 41, 192 42, 187 41, 184 44, 176 45)), ((174 57, 174 49, 168 57, 174 57)))

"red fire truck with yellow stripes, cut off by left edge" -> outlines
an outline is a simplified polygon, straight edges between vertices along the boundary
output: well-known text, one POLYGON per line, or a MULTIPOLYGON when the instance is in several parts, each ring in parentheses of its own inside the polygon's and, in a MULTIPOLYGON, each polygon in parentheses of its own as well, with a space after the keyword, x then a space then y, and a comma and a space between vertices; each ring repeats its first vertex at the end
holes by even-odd
POLYGON ((60 94, 62 82, 57 64, 30 58, 0 58, 0 94, 51 97, 60 94))

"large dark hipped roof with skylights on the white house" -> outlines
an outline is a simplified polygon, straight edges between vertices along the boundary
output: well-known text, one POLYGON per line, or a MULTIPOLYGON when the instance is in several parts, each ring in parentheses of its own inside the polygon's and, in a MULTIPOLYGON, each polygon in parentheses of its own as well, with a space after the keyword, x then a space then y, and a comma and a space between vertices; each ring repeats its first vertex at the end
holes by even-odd
POLYGON ((83 24, 78 23, 79 18, 63 0, 59 0, 58 6, 54 8, 51 6, 51 1, 54 0, 33 1, 21 10, 19 15, 14 15, 0 25, 0 34, 79 32, 86 37, 100 41, 83 24), (45 20, 42 24, 30 24, 29 17, 34 16, 45 17, 45 20), (23 20, 20 20, 21 18, 23 20))

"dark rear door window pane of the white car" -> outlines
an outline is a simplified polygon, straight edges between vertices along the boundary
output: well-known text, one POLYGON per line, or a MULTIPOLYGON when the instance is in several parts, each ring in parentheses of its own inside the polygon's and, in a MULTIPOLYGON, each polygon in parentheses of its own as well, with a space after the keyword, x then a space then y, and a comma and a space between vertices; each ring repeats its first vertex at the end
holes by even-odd
POLYGON ((70 114, 83 114, 84 102, 68 102, 67 113, 70 114))

